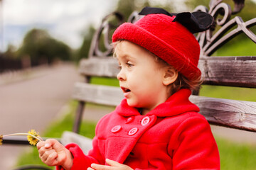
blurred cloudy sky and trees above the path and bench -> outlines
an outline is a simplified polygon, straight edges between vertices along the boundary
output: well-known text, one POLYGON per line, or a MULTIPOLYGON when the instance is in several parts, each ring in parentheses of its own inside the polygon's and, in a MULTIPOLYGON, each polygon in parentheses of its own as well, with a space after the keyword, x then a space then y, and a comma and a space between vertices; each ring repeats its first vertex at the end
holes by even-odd
MULTIPOLYGON (((231 6, 233 1, 226 1, 231 6)), ((1 0, 0 72, 59 60, 78 62, 87 57, 90 40, 102 18, 112 11, 125 18, 144 6, 171 12, 192 11, 209 0, 1 0)), ((255 16, 255 0, 246 0, 242 18, 255 16)), ((233 54, 230 54, 233 55, 233 54)))

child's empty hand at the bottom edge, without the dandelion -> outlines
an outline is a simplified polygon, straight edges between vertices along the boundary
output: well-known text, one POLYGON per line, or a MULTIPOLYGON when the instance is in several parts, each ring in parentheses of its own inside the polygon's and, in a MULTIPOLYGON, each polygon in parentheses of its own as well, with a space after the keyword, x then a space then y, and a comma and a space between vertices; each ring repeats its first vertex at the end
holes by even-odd
POLYGON ((119 164, 118 162, 114 162, 110 159, 106 159, 106 163, 109 164, 107 165, 100 165, 100 164, 92 164, 91 168, 88 168, 87 170, 133 170, 127 165, 124 164, 119 164))

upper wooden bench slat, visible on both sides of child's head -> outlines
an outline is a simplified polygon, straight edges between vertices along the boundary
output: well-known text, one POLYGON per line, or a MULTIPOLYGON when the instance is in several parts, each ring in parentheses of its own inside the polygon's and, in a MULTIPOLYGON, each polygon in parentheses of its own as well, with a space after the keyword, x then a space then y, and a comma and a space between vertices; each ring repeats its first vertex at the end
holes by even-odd
MULTIPOLYGON (((203 84, 256 88, 256 57, 202 57, 203 84)), ((85 76, 116 77, 117 60, 112 57, 91 58, 80 62, 80 73, 85 76)))

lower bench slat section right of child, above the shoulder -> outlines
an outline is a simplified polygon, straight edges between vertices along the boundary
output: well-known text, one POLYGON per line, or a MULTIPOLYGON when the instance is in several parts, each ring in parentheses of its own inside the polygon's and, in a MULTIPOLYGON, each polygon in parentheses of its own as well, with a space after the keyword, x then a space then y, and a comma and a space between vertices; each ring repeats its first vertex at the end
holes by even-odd
POLYGON ((190 99, 210 124, 256 132, 256 102, 203 96, 190 99))

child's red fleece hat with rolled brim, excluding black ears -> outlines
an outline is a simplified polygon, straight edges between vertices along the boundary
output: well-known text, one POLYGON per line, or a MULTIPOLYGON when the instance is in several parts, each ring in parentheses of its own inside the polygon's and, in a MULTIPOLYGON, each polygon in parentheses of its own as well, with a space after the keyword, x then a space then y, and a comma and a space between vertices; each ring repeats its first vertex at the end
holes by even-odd
POLYGON ((176 16, 149 14, 136 23, 123 23, 114 31, 112 42, 129 40, 154 53, 181 72, 187 79, 201 76, 198 69, 200 46, 193 33, 176 16))

